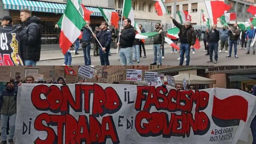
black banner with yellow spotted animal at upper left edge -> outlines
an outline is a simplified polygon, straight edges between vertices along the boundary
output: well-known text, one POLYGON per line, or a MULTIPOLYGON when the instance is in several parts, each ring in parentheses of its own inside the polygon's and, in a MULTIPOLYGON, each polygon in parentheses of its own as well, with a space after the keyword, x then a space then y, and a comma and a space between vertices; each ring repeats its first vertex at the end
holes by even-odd
POLYGON ((0 66, 23 65, 19 55, 18 27, 0 27, 0 66))

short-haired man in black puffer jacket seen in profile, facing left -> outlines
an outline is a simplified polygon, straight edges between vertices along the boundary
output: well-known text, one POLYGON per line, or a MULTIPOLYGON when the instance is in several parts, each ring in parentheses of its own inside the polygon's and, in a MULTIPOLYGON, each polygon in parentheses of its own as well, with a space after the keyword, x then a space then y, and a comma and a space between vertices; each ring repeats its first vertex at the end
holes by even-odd
POLYGON ((27 9, 20 11, 24 28, 19 32, 21 58, 26 66, 35 66, 40 60, 41 52, 41 19, 31 17, 27 9))

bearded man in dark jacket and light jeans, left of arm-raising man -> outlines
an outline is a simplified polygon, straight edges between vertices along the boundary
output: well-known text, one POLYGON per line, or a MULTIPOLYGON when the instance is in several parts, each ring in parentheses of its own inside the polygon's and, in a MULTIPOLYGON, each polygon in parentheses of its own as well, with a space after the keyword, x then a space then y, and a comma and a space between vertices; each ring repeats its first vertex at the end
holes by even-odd
POLYGON ((164 31, 160 28, 160 23, 156 23, 154 32, 158 32, 156 36, 154 36, 153 41, 153 50, 154 50, 154 62, 150 65, 156 65, 157 57, 158 57, 158 64, 162 65, 162 55, 161 49, 164 48, 164 31))

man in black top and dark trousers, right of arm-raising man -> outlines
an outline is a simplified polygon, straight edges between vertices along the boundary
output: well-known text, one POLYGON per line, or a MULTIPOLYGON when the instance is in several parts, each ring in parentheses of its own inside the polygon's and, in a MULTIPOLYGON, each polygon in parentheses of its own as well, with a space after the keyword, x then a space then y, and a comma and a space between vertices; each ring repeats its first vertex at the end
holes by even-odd
POLYGON ((219 40, 220 40, 220 31, 217 30, 217 25, 214 24, 212 26, 212 30, 209 31, 209 33, 206 37, 206 42, 207 42, 206 45, 209 45, 209 53, 210 53, 210 60, 207 62, 213 62, 212 54, 214 51, 214 63, 217 63, 219 40))

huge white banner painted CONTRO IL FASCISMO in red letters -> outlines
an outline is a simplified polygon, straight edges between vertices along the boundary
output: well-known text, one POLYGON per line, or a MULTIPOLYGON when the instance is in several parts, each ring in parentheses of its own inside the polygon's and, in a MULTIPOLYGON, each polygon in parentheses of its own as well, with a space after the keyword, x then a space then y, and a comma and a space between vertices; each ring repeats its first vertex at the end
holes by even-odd
POLYGON ((236 144, 255 116, 255 100, 221 88, 22 84, 16 143, 236 144))

